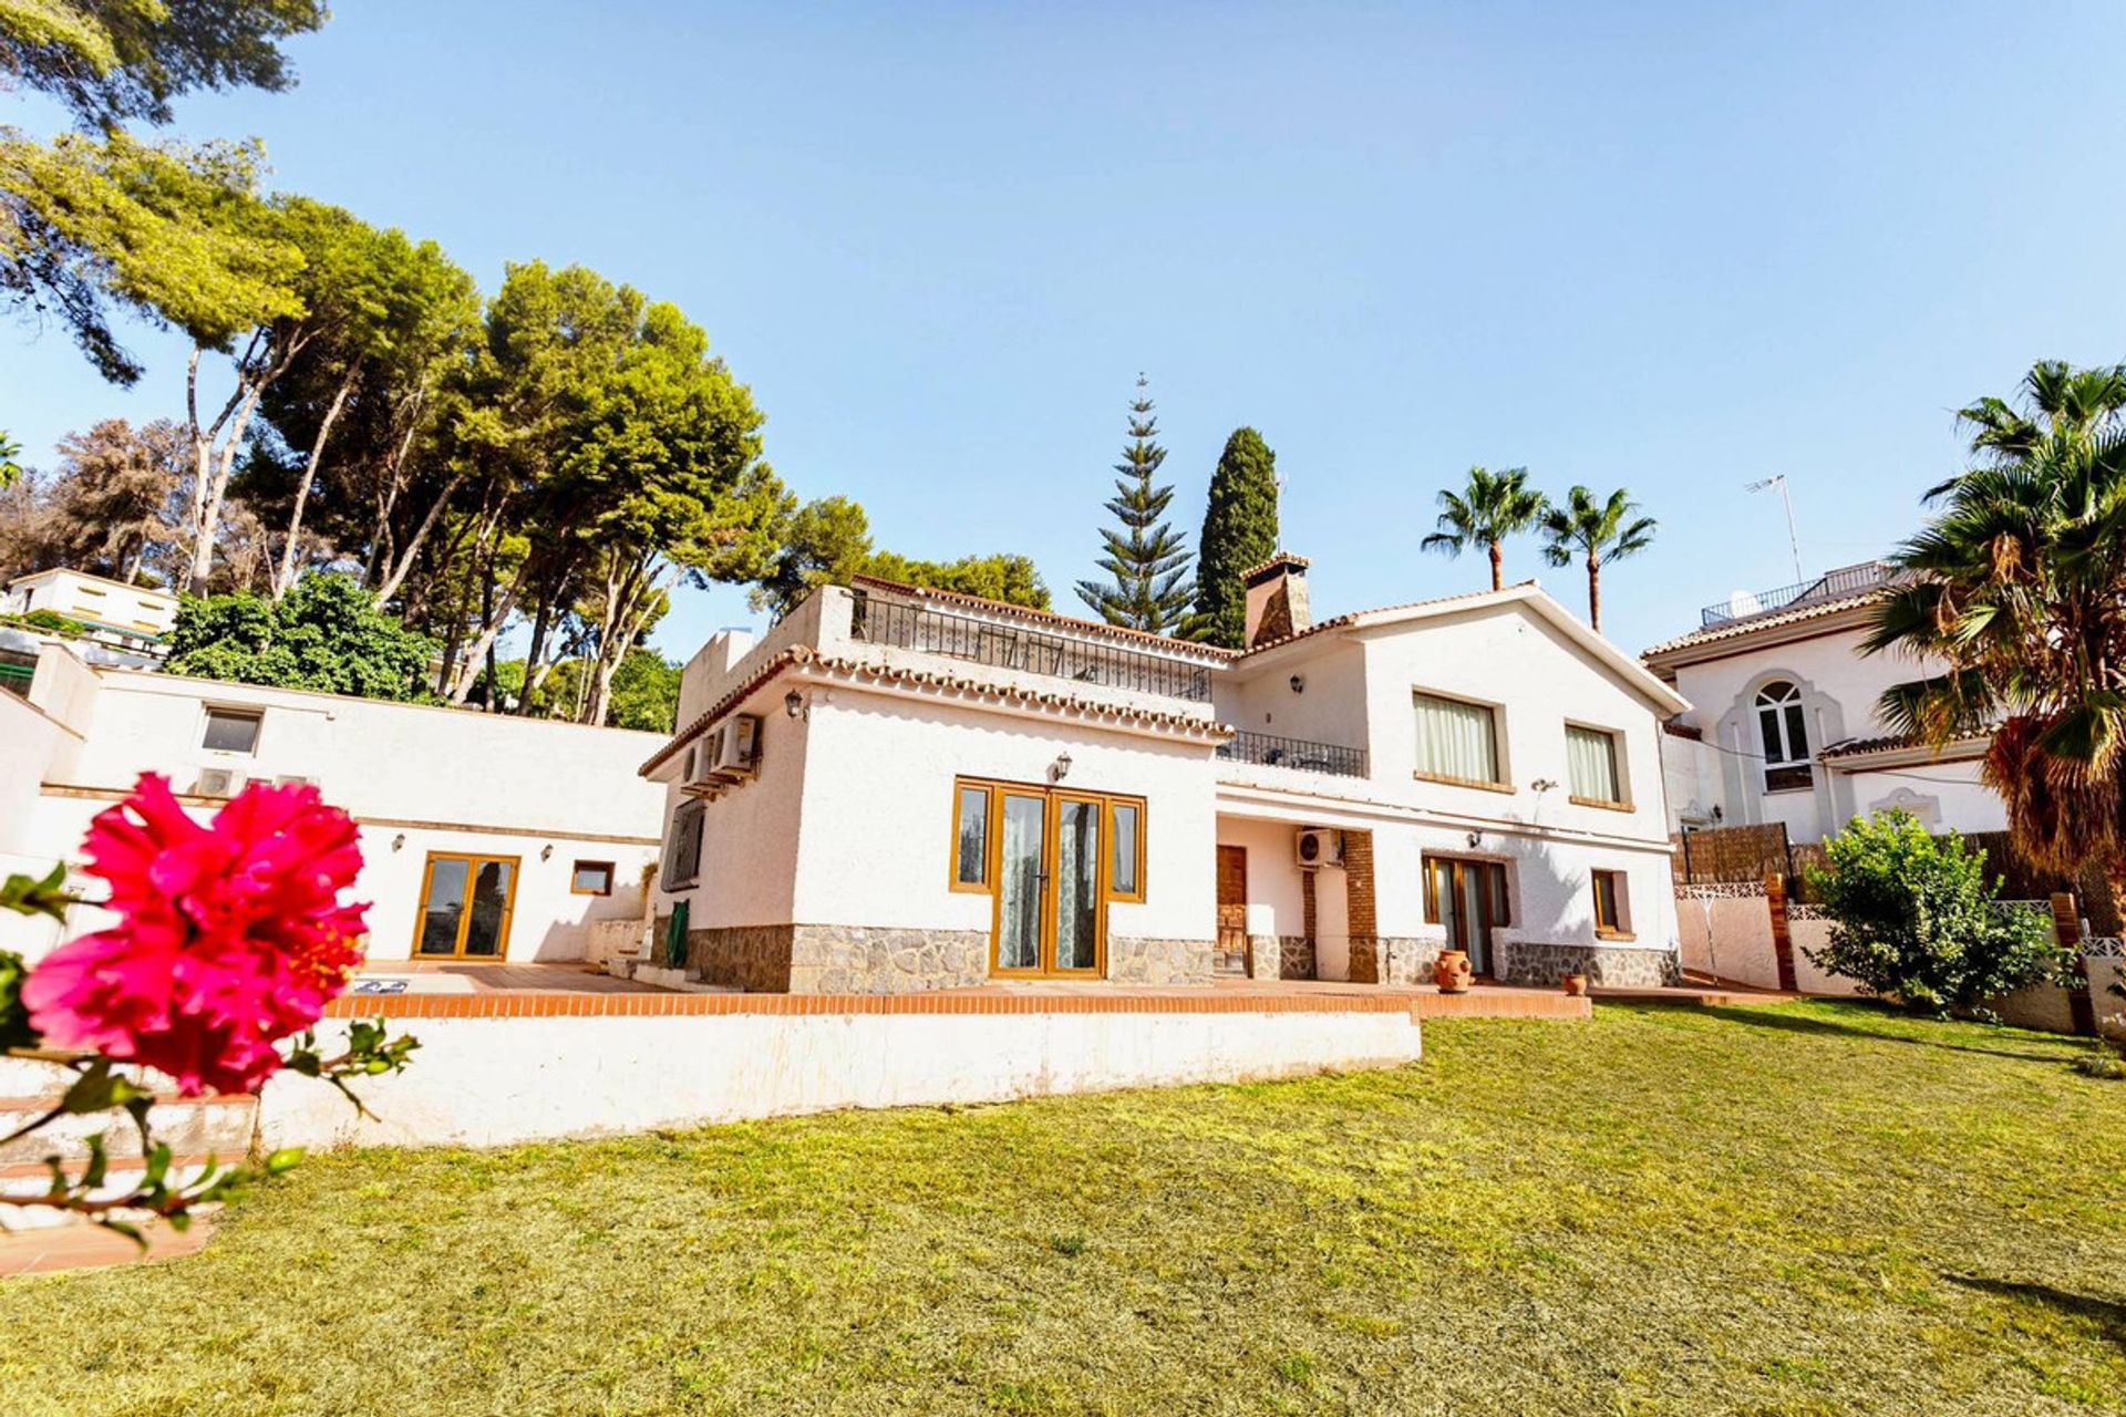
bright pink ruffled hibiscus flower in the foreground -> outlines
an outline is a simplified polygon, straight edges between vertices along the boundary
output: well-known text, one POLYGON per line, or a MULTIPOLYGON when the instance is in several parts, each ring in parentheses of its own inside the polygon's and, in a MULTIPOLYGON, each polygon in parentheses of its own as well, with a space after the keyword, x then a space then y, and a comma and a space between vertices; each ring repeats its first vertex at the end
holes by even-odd
POLYGON ((253 784, 202 826, 168 778, 96 816, 89 875, 119 924, 60 945, 23 979, 53 1047, 140 1062, 183 1094, 253 1092, 274 1043, 325 1011, 361 962, 355 822, 313 786, 253 784))

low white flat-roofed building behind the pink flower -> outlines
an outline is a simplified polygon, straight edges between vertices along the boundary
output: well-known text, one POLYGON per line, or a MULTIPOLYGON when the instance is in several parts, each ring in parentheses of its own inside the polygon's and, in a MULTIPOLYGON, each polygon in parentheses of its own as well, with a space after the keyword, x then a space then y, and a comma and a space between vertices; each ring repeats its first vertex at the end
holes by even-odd
MULTIPOLYGON (((247 782, 313 782, 361 829, 372 962, 576 960, 600 928, 631 952, 661 812, 634 769, 661 741, 98 667, 45 646, 28 693, 0 695, 0 867, 79 860, 89 818, 140 773, 166 775, 200 814, 247 782)), ((36 945, 21 928, 9 943, 36 945)))

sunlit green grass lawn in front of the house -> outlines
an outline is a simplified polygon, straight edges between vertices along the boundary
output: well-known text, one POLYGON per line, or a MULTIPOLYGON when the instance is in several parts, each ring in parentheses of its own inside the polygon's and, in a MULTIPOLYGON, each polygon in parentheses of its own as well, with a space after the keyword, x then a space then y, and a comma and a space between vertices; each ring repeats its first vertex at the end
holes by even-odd
POLYGON ((2126 1083, 1862 1005, 315 1158, 0 1283, 0 1411, 2126 1413, 2126 1083))

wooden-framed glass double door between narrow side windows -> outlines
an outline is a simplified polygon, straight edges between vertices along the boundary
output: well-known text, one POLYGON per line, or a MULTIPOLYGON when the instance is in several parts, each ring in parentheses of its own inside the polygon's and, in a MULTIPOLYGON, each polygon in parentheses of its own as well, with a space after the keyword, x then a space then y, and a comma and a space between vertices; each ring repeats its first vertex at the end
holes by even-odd
POLYGON ((991 971, 1099 977, 1108 962, 1108 805, 1061 788, 997 792, 991 971))

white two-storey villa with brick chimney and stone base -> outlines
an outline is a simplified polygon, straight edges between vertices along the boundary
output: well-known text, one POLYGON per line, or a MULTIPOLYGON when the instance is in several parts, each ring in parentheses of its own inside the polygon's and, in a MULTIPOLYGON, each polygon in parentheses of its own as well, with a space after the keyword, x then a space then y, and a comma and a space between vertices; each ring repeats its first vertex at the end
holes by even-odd
POLYGON ((657 964, 712 986, 1677 977, 1673 688, 1531 584, 1244 652, 857 578, 687 665, 657 964))

